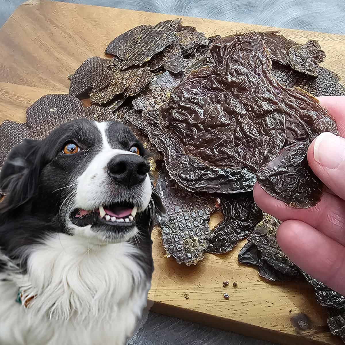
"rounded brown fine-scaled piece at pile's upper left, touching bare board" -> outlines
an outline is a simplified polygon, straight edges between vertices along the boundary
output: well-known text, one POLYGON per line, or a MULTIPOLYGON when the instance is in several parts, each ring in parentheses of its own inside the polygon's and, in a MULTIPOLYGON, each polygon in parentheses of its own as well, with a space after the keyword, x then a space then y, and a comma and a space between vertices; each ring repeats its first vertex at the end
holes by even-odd
POLYGON ((111 81, 108 67, 112 63, 111 59, 103 59, 98 56, 85 60, 70 78, 69 94, 80 96, 91 90, 97 92, 106 87, 111 81))

